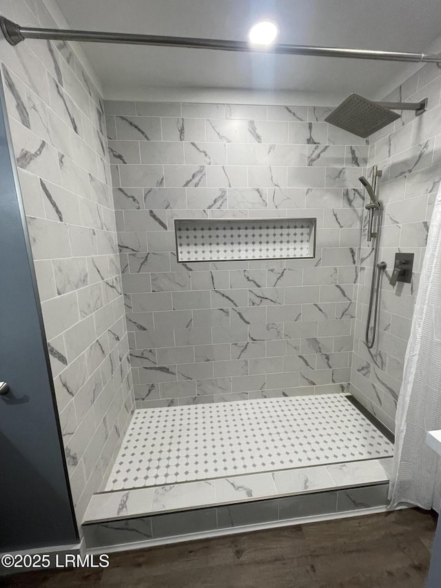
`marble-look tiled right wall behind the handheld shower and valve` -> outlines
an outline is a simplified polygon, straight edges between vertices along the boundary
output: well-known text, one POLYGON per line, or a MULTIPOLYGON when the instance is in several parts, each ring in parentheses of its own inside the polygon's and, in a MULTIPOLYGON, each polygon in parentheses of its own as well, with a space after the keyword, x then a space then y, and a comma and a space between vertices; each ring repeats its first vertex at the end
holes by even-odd
POLYGON ((379 182, 384 204, 379 261, 386 261, 387 270, 381 285, 378 337, 369 350, 364 338, 373 243, 367 243, 365 215, 351 392, 392 430, 433 202, 441 179, 440 96, 441 70, 435 64, 424 65, 384 99, 417 102, 427 97, 428 111, 420 116, 403 111, 393 125, 370 138, 369 165, 377 164, 383 172, 379 182), (389 278, 396 252, 415 254, 414 273, 411 283, 397 283, 393 288, 389 278))

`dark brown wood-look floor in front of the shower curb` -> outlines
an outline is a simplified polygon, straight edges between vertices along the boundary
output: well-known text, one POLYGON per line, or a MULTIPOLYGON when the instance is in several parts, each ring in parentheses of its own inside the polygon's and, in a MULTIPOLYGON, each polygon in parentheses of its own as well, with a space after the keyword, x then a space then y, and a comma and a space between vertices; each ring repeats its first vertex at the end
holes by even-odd
MULTIPOLYGON (((419 509, 110 554, 107 569, 29 572, 8 587, 422 588, 435 518, 419 509)), ((5 583, 6 582, 6 583, 5 583)))

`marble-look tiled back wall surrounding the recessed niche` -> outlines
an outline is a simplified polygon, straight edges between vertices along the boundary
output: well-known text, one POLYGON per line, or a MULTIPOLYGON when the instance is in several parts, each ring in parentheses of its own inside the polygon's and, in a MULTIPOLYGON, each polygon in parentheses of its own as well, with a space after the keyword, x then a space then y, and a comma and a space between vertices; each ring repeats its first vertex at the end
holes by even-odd
POLYGON ((105 103, 136 406, 347 389, 368 148, 330 111, 105 103), (176 218, 289 216, 316 258, 176 262, 176 218))

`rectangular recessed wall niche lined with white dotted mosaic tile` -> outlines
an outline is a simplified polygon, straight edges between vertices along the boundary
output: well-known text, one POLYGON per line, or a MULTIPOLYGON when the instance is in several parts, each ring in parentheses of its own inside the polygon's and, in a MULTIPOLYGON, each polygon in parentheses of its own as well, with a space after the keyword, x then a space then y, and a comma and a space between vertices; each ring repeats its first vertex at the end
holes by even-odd
POLYGON ((177 260, 314 258, 316 220, 176 219, 177 260))

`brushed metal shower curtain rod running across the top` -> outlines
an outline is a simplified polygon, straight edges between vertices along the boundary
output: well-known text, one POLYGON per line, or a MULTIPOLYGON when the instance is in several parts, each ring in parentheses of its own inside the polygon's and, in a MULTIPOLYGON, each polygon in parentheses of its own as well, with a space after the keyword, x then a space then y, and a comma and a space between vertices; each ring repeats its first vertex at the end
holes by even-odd
POLYGON ((225 39, 197 39, 192 37, 163 37, 162 35, 133 34, 126 32, 34 28, 20 26, 5 17, 0 17, 0 27, 6 40, 11 45, 17 45, 25 39, 51 39, 53 41, 125 43, 127 45, 156 45, 159 47, 181 47, 187 49, 212 49, 220 51, 309 55, 314 57, 346 57, 350 59, 378 59, 381 61, 441 63, 441 54, 316 47, 314 45, 276 44, 261 47, 250 45, 247 41, 227 41, 225 39))

